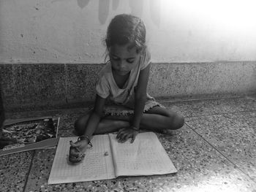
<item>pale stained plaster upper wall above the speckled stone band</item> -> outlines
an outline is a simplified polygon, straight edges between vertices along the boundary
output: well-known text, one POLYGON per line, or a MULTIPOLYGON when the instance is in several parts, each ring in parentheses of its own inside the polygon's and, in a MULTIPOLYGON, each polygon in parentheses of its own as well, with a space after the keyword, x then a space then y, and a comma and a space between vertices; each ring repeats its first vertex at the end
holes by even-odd
POLYGON ((108 23, 123 12, 145 21, 154 62, 256 61, 256 12, 237 1, 208 1, 202 15, 178 0, 0 0, 0 62, 102 63, 108 23), (219 25, 211 17, 220 13, 230 20, 219 25))

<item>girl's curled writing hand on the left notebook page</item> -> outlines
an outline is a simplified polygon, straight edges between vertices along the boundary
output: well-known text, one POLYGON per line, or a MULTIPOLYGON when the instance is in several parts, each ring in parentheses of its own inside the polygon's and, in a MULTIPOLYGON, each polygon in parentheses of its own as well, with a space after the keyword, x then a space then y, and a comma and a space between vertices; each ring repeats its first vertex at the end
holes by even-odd
POLYGON ((78 142, 70 141, 69 147, 69 161, 72 163, 78 163, 85 157, 85 152, 88 146, 88 140, 83 139, 78 142))

